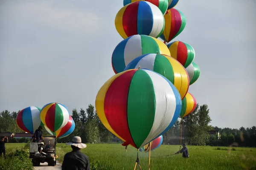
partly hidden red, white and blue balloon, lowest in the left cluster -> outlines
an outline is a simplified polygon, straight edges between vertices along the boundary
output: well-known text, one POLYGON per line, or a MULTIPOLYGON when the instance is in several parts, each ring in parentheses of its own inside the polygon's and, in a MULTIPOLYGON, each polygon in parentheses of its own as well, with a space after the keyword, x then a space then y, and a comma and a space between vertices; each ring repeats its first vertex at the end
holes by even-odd
POLYGON ((55 135, 57 138, 64 138, 66 136, 69 136, 75 130, 75 122, 73 118, 70 116, 67 125, 57 130, 55 133, 49 130, 48 127, 45 127, 45 129, 50 135, 55 135))

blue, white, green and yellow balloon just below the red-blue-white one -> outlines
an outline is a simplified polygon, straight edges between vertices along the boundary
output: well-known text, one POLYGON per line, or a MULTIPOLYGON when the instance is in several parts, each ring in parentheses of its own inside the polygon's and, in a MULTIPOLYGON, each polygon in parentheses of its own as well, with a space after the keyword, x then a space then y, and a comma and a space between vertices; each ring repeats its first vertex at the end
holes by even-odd
POLYGON ((122 40, 112 54, 112 68, 117 74, 124 71, 125 67, 136 57, 143 54, 170 55, 168 47, 160 40, 147 35, 133 35, 122 40))

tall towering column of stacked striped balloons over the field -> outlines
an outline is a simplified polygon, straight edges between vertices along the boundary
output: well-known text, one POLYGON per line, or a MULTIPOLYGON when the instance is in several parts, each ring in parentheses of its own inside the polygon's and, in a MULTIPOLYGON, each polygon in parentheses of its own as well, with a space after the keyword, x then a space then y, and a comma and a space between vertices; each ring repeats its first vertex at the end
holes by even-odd
POLYGON ((162 139, 178 117, 195 109, 188 93, 200 74, 195 51, 185 42, 168 44, 186 26, 184 15, 173 8, 178 1, 124 0, 116 14, 116 30, 124 40, 113 51, 116 75, 100 88, 96 111, 124 146, 139 149, 162 139))

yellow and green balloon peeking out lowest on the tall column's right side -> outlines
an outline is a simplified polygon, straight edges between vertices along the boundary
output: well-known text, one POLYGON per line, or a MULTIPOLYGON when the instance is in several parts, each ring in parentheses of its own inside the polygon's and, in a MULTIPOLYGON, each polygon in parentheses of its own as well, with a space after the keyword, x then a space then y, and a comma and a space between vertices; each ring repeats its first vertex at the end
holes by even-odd
POLYGON ((188 116, 192 111, 195 110, 196 107, 196 100, 192 94, 189 92, 186 94, 184 99, 182 100, 182 109, 180 112, 180 118, 188 116))

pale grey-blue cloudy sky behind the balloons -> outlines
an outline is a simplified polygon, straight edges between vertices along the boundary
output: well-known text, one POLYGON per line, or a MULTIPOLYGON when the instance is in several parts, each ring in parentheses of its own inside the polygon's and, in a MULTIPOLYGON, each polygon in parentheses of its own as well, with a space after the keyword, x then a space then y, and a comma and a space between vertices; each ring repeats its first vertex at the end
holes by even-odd
MULTIPOLYGON (((60 102, 72 111, 95 105, 114 75, 122 41, 114 20, 122 0, 1 0, 0 111, 60 102)), ((201 69, 189 88, 207 104, 211 125, 256 125, 255 0, 180 0, 186 17, 175 38, 195 49, 201 69)))

